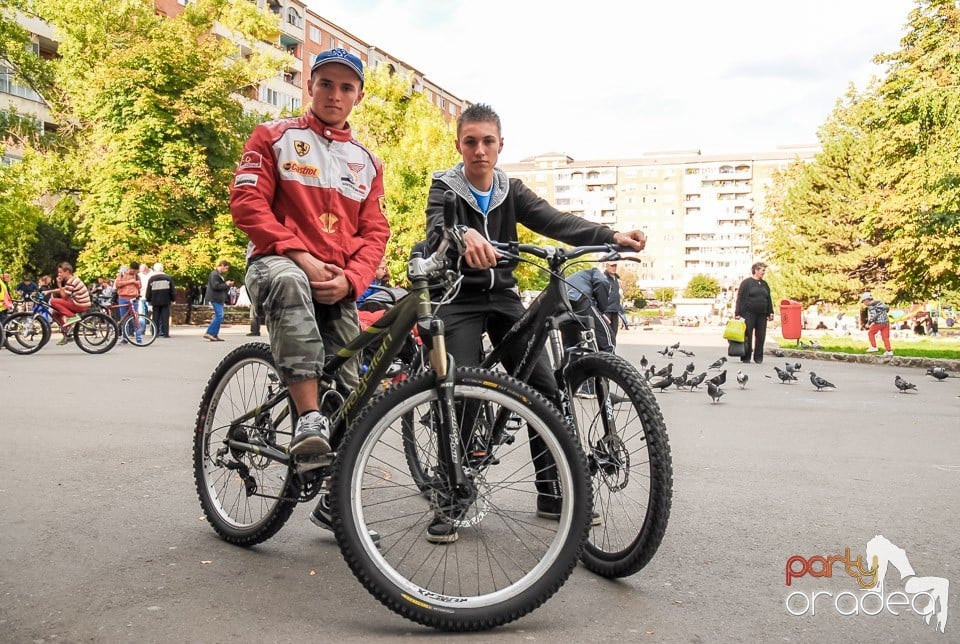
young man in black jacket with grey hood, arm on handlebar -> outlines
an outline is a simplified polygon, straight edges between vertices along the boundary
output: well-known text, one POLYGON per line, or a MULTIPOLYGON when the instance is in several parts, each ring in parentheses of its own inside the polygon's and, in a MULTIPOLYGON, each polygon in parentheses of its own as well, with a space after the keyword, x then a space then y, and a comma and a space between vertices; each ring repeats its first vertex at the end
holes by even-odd
MULTIPOLYGON (((545 237, 573 245, 619 244, 643 250, 646 238, 639 230, 619 233, 607 226, 557 210, 537 196, 519 179, 510 179, 496 167, 503 137, 500 117, 490 106, 472 105, 457 120, 457 151, 462 163, 449 170, 435 172, 427 202, 427 239, 435 248, 442 235, 443 195, 457 195, 457 219, 467 226, 464 235, 466 253, 463 281, 456 298, 440 309, 444 322, 447 350, 457 366, 476 365, 480 361, 480 337, 486 331, 490 341, 500 344, 504 334, 523 315, 516 263, 497 266, 499 259, 491 241, 517 241, 517 224, 545 237)), ((504 353, 504 366, 514 367, 514 358, 523 355, 522 347, 504 353)), ((530 385, 551 400, 556 400, 556 381, 545 354, 530 377, 530 385)), ((550 463, 537 462, 538 472, 550 463)), ((538 475, 539 477, 539 475, 538 475)), ((538 482, 537 514, 559 516, 559 491, 538 482)), ((457 539, 449 523, 434 521, 427 540, 449 543, 457 539)))

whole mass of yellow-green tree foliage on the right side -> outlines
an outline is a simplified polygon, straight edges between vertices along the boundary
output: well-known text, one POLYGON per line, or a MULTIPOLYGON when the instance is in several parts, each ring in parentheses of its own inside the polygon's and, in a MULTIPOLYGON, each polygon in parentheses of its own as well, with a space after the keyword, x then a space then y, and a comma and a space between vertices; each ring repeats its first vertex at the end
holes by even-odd
POLYGON ((917 0, 883 78, 838 102, 822 152, 767 200, 771 286, 793 299, 892 301, 960 288, 960 9, 917 0))

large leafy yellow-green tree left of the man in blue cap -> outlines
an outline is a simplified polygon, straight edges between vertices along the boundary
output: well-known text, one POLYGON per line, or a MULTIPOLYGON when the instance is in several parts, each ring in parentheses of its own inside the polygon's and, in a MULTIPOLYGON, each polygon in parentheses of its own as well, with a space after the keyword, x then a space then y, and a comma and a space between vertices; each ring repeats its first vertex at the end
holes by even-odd
POLYGON ((276 16, 227 0, 198 0, 176 19, 142 0, 35 5, 61 37, 49 102, 69 135, 59 165, 81 171, 50 188, 77 198, 78 273, 138 258, 174 275, 239 263, 227 192, 249 117, 236 92, 275 75, 283 57, 238 59, 213 27, 275 39, 276 16))

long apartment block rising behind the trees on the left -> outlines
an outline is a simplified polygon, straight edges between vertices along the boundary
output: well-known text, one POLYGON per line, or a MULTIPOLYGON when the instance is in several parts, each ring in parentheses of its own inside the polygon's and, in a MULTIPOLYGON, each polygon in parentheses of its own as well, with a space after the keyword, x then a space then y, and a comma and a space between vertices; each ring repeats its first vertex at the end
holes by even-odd
MULTIPOLYGON (((190 0, 155 0, 157 13, 174 17, 183 12, 190 0)), ((257 47, 277 47, 292 56, 291 64, 275 77, 249 91, 241 100, 250 111, 278 115, 297 114, 309 104, 307 82, 310 67, 317 54, 334 47, 342 47, 357 56, 367 66, 389 65, 394 72, 411 74, 413 92, 420 92, 441 110, 448 120, 456 119, 470 103, 444 87, 428 80, 426 75, 400 58, 379 49, 358 36, 333 24, 307 8, 298 0, 250 0, 261 10, 280 16, 281 32, 277 42, 237 42, 237 55, 249 55, 257 47)), ((53 28, 29 16, 21 15, 20 24, 32 35, 34 52, 43 58, 57 55, 57 41, 53 28)), ((219 35, 232 39, 233 35, 219 30, 219 35)), ((41 128, 56 129, 50 110, 43 98, 14 78, 12 70, 0 61, 0 109, 16 108, 17 112, 37 119, 41 128)), ((21 153, 15 147, 4 151, 3 162, 18 161, 21 153)))

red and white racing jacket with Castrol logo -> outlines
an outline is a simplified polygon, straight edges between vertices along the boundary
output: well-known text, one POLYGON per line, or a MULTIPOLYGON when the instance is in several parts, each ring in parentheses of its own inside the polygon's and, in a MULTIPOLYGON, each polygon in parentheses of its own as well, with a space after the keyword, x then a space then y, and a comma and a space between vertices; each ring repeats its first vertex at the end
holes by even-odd
POLYGON ((363 293, 383 257, 383 165, 311 111, 262 123, 247 141, 230 190, 230 213, 252 255, 305 250, 339 266, 363 293))

